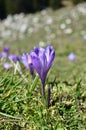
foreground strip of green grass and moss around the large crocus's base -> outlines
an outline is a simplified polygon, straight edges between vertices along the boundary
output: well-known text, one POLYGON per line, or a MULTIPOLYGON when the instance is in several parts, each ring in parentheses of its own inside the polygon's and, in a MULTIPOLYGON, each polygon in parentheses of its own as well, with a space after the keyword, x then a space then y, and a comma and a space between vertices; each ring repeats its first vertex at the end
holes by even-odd
POLYGON ((82 78, 71 83, 48 78, 51 102, 47 109, 40 94, 38 76, 32 82, 27 72, 25 77, 29 77, 29 82, 26 82, 19 73, 14 75, 13 71, 5 70, 1 73, 0 129, 85 130, 86 94, 82 78))

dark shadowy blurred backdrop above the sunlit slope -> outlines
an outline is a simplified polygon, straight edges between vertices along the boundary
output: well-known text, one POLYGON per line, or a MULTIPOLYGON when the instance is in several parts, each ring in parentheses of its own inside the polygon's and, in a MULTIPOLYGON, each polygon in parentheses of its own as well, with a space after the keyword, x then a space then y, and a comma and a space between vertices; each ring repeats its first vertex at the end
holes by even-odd
POLYGON ((35 13, 47 7, 59 9, 70 2, 76 5, 86 0, 0 0, 0 19, 4 19, 8 14, 35 13))

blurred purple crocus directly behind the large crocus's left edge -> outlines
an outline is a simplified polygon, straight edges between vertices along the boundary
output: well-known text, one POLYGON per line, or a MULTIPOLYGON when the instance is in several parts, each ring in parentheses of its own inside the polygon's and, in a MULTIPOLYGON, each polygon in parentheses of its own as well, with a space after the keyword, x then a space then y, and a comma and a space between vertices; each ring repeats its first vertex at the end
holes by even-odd
POLYGON ((32 75, 34 75, 34 68, 33 68, 33 65, 31 63, 30 55, 28 53, 23 54, 22 57, 21 57, 21 60, 22 60, 22 63, 24 64, 24 66, 26 68, 30 69, 30 73, 32 75))

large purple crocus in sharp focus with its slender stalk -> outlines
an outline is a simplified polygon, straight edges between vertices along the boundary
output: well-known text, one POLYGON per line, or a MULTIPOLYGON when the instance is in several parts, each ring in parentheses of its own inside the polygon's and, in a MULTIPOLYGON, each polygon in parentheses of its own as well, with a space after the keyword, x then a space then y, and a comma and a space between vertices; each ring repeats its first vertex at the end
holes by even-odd
POLYGON ((45 49, 35 47, 30 56, 32 65, 42 81, 42 95, 45 98, 45 80, 55 57, 54 48, 52 46, 47 46, 45 49))

